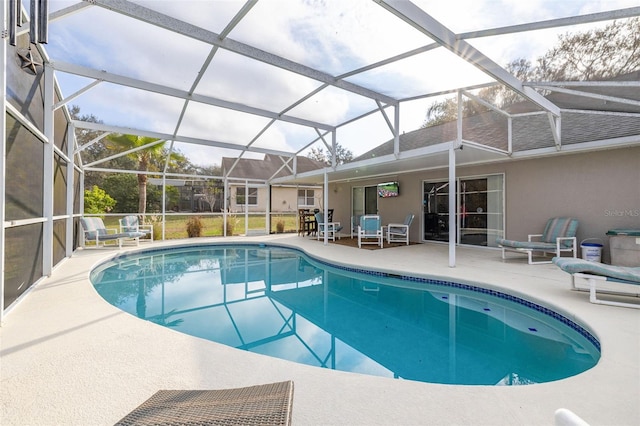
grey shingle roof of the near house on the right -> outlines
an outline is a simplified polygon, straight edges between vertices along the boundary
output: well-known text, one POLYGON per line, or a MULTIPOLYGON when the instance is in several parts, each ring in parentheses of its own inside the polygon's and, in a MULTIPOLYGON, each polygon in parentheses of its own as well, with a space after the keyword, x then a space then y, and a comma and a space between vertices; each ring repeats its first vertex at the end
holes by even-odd
MULTIPOLYGON (((637 81, 640 70, 620 79, 637 81)), ((625 87, 576 87, 575 90, 603 96, 621 96, 630 100, 640 100, 640 92, 625 87)), ((574 94, 552 93, 547 96, 562 111, 560 140, 562 145, 624 138, 640 134, 640 107, 633 104, 611 102, 601 98, 576 96, 574 94), (635 113, 635 115, 626 114, 635 113)), ((505 113, 488 111, 465 117, 462 121, 462 139, 487 147, 508 150, 509 124, 506 114, 512 116, 512 150, 528 151, 555 145, 550 121, 546 113, 535 109, 530 102, 509 106, 505 113), (527 114, 535 113, 538 114, 527 114), (526 114, 526 115, 517 115, 526 114)), ((400 151, 436 145, 456 139, 457 122, 420 128, 400 135, 400 151)), ((393 154, 394 140, 369 150, 353 161, 366 160, 393 154)))

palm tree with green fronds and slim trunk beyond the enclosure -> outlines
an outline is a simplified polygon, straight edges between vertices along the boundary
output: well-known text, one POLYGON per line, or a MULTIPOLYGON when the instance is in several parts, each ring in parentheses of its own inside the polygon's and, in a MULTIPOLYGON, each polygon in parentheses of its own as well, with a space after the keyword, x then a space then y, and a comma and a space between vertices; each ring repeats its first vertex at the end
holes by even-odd
MULTIPOLYGON (((159 163, 165 156, 165 142, 160 139, 136 135, 109 135, 106 145, 109 149, 131 151, 127 156, 138 163, 138 171, 147 172, 153 164, 159 163), (143 148, 149 145, 148 148, 143 148)), ((138 174, 138 212, 142 215, 147 211, 147 174, 138 174)))

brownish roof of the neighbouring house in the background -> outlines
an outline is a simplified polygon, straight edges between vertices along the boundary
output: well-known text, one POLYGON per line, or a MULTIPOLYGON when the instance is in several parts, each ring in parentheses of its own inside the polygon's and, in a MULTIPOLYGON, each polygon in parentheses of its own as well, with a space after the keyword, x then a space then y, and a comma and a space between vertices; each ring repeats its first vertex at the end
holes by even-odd
MULTIPOLYGON (((236 160, 238 159, 233 157, 222 158, 222 172, 227 177, 252 180, 270 180, 276 177, 284 177, 293 174, 289 169, 289 167, 293 169, 293 161, 288 163, 289 167, 282 167, 288 158, 277 155, 266 154, 263 160, 240 158, 236 166, 231 169, 236 160), (228 173, 229 170, 231 170, 230 173, 228 173)), ((319 161, 302 156, 297 156, 296 163, 297 173, 320 170, 325 166, 319 161)))

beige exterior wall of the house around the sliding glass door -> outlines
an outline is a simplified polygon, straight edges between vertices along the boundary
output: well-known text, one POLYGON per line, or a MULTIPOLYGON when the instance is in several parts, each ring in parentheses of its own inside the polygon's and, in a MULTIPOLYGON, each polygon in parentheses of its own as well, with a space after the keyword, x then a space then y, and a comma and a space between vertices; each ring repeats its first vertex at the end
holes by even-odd
MULTIPOLYGON (((601 239, 605 245, 603 260, 608 262, 606 232, 613 228, 640 229, 640 146, 457 169, 457 177, 496 173, 504 174, 507 238, 526 240, 527 234, 541 233, 549 218, 572 216, 580 222, 578 244, 586 238, 601 239)), ((400 196, 378 198, 378 212, 385 224, 402 222, 408 212, 414 213, 410 238, 422 241, 422 182, 434 179, 447 180, 447 169, 332 183, 329 207, 335 209, 334 220, 348 225, 353 186, 397 180, 400 196)))

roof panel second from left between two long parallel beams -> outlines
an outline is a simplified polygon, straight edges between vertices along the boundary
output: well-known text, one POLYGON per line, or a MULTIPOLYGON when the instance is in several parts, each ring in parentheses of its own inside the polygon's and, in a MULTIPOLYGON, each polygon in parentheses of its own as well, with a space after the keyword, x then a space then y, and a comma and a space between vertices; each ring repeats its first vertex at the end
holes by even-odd
POLYGON ((195 93, 282 112, 320 82, 219 49, 195 93))

